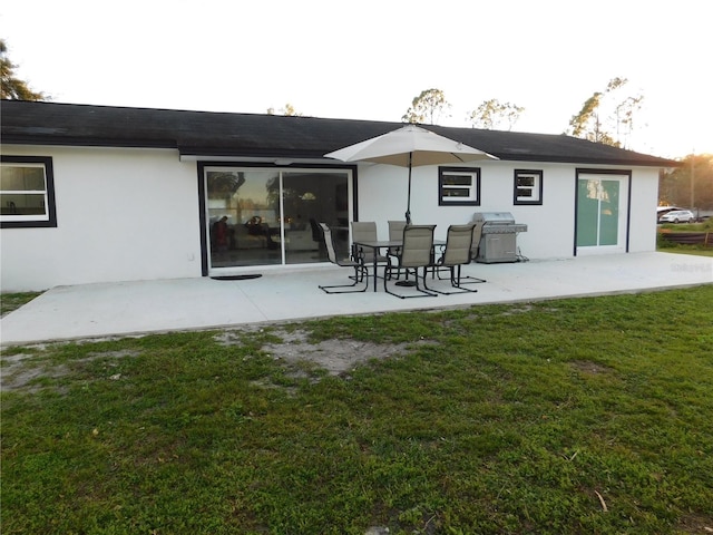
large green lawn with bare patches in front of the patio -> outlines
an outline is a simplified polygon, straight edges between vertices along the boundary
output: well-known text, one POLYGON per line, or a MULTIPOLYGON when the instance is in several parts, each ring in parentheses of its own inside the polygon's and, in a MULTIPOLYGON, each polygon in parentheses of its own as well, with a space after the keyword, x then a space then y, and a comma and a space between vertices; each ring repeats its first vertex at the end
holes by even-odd
POLYGON ((711 533, 712 303, 713 284, 6 349, 2 533, 711 533))

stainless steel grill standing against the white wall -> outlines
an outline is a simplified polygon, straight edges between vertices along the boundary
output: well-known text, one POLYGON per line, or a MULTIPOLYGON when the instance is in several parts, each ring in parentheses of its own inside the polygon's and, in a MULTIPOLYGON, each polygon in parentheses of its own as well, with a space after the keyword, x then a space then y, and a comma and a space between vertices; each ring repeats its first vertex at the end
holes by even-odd
POLYGON ((482 222, 476 262, 492 264, 518 261, 517 234, 527 232, 527 225, 515 223, 510 212, 476 212, 472 222, 482 222))

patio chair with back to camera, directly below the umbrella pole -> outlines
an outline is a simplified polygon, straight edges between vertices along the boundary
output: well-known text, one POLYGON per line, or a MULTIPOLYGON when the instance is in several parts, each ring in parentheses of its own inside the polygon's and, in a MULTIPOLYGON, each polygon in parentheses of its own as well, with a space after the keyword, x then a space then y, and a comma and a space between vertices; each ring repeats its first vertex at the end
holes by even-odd
MULTIPOLYGON (((426 286, 426 269, 432 264, 434 230, 436 225, 407 225, 403 227, 402 245, 397 255, 398 265, 394 265, 391 257, 388 257, 384 270, 383 289, 387 293, 400 299, 438 296, 419 284, 419 268, 423 270, 423 286, 426 286), (419 293, 403 294, 389 290, 389 280, 392 279, 393 272, 399 270, 406 271, 407 276, 409 272, 413 273, 414 283, 411 288, 414 288, 419 293)), ((403 282, 395 282, 394 285, 403 284, 403 282)))

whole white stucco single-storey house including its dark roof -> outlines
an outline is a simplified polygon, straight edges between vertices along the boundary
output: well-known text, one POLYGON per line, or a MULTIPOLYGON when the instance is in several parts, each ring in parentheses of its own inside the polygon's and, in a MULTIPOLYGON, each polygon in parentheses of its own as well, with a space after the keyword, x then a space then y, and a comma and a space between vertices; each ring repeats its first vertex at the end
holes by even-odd
MULTIPOLYGON (((406 169, 323 155, 398 123, 2 100, 3 292, 324 263, 314 222, 403 220, 406 169), (223 224, 224 223, 224 224, 223 224), (253 224, 256 223, 256 224, 253 224)), ((653 251, 662 168, 565 135, 424 126, 498 160, 413 169, 414 223, 508 212, 528 259, 653 251)))

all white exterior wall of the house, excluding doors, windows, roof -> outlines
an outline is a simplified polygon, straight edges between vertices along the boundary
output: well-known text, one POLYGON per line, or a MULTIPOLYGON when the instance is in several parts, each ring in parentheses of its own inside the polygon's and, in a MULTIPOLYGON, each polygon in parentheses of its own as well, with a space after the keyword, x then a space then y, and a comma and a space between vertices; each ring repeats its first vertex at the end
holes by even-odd
MULTIPOLYGON (((55 171, 57 227, 0 230, 3 292, 57 285, 201 276, 201 214, 197 165, 169 149, 3 146, 4 155, 49 156, 55 171)), ((438 171, 412 173, 414 223, 448 225, 471 221, 475 212, 511 212, 528 225, 518 235, 522 256, 574 255, 576 165, 480 162, 480 206, 439 206, 438 171), (515 169, 543 171, 543 204, 514 205, 515 169)), ((629 251, 654 251, 657 168, 580 167, 632 171, 629 251)), ((378 222, 403 220, 408 171, 359 165, 358 214, 378 222)))

